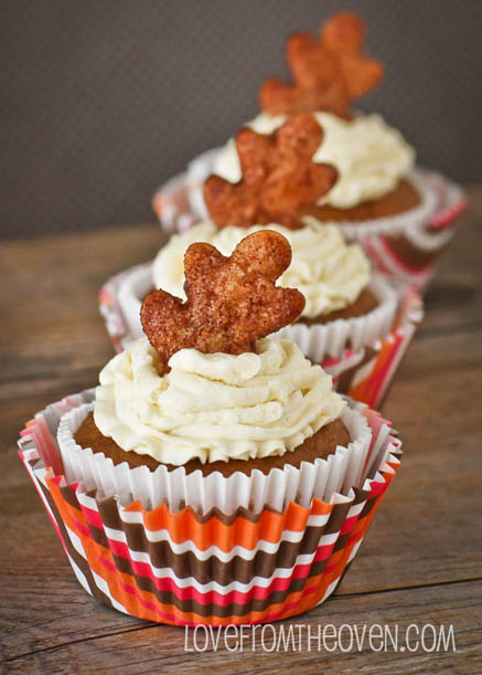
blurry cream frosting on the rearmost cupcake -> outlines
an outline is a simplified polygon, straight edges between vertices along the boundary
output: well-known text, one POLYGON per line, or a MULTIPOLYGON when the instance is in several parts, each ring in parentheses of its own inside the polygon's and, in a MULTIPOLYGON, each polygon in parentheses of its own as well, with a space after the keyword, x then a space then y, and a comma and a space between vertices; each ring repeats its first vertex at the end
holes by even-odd
MULTIPOLYGON (((319 200, 338 209, 356 207, 379 199, 394 190, 415 164, 415 150, 399 131, 379 115, 358 115, 345 122, 330 113, 314 113, 324 135, 313 161, 336 167, 339 178, 330 192, 319 200)), ((271 134, 286 120, 282 115, 259 114, 247 126, 258 134, 271 134)), ((242 178, 234 139, 216 157, 213 172, 238 182, 242 178)))

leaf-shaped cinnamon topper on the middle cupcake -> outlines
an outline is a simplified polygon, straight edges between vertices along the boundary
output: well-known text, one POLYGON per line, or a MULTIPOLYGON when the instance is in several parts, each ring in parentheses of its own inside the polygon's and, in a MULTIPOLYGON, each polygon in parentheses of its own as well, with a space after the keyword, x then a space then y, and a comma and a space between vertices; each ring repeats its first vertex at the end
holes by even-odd
POLYGON ((317 202, 336 181, 336 169, 314 164, 323 130, 312 115, 290 117, 274 134, 243 128, 235 137, 243 171, 232 183, 210 176, 204 183, 204 201, 219 228, 279 223, 303 226, 298 213, 317 202))

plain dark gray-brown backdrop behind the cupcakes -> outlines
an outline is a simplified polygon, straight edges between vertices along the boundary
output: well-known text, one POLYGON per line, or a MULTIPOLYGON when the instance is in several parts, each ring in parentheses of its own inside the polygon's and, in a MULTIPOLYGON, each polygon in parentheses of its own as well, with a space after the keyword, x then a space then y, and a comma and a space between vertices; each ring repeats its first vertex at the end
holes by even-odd
POLYGON ((157 186, 257 112, 297 30, 352 9, 386 66, 360 106, 482 180, 481 0, 1 1, 0 235, 153 220, 157 186))

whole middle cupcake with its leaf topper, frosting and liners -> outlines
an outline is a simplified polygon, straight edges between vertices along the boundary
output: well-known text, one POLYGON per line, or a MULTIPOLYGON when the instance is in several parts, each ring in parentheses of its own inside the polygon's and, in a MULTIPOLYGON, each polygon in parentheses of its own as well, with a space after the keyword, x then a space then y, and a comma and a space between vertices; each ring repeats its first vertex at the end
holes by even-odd
MULTIPOLYGON (((311 160, 321 136, 321 127, 310 115, 292 116, 270 136, 251 129, 239 131, 243 180, 233 186, 212 176, 205 182, 213 220, 173 235, 153 262, 152 278, 151 270, 141 267, 126 273, 119 284, 117 316, 129 324, 121 346, 141 335, 140 305, 152 286, 184 297, 183 259, 190 244, 208 242, 231 255, 247 234, 267 228, 286 236, 292 249, 291 265, 280 285, 298 288, 306 299, 298 321, 280 335, 293 339, 313 362, 328 368, 340 391, 355 393, 357 387, 358 400, 373 405, 379 402, 386 382, 378 376, 378 357, 387 348, 399 359, 407 344, 404 337, 401 347, 400 340, 390 336, 405 295, 379 274, 372 275, 363 249, 357 243, 346 244, 334 224, 300 217, 299 208, 326 192, 336 180, 331 166, 311 160)), ((107 293, 103 296, 108 300, 107 293)), ((103 307, 111 316, 107 302, 103 307)), ((108 323, 110 333, 117 335, 111 325, 108 323)), ((385 372, 385 356, 382 361, 385 372)), ((390 367, 387 372, 392 377, 394 371, 390 367)))

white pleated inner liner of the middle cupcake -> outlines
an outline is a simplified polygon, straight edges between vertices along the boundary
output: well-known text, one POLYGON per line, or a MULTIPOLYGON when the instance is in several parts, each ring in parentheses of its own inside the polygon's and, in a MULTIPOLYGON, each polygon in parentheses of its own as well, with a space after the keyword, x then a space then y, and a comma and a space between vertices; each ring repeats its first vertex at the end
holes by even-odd
MULTIPOLYGON (((141 298, 152 287, 150 275, 150 264, 133 267, 126 271, 117 288, 116 299, 129 330, 122 342, 125 347, 143 335, 139 317, 141 298)), ((339 358, 346 348, 356 351, 374 347, 390 330, 400 291, 395 291, 390 282, 377 274, 372 275, 367 287, 379 302, 368 314, 313 326, 296 323, 282 328, 277 336, 297 342, 304 356, 315 363, 326 357, 339 358)))

